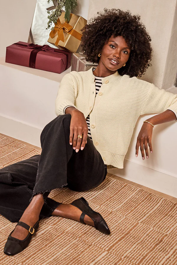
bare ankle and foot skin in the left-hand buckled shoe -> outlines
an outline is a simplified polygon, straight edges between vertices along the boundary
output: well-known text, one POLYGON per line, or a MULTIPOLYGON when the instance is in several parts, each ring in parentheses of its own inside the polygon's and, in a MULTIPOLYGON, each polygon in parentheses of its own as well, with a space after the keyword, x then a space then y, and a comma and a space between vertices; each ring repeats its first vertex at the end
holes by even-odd
MULTIPOLYGON (((24 211, 22 217, 19 221, 26 223, 29 226, 34 226, 39 220, 39 214, 44 204, 44 199, 42 194, 37 194, 32 198, 29 206, 24 211)), ((11 234, 12 237, 19 240, 23 240, 27 237, 29 231, 22 226, 16 226, 15 230, 11 234)))

